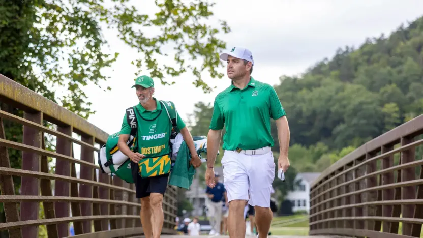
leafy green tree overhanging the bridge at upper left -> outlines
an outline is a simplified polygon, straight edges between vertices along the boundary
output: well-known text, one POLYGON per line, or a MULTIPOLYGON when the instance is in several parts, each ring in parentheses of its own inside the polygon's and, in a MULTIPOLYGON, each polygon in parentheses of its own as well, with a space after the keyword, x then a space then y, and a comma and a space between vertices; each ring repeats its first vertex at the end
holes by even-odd
MULTIPOLYGON (((0 0, 0 73, 88 118, 95 111, 83 88, 94 84, 110 90, 103 83, 109 79, 103 69, 111 67, 119 53, 108 47, 102 35, 107 27, 137 53, 134 79, 142 69, 169 85, 175 83, 169 77, 191 72, 196 77, 193 84, 210 92, 201 72, 208 71, 212 78, 223 76, 216 69, 221 64, 219 51, 226 45, 217 35, 230 28, 225 21, 211 26, 207 19, 213 16, 214 3, 208 1, 155 4, 156 12, 143 14, 129 0, 0 0), (157 35, 146 34, 149 29, 157 35), (163 57, 173 62, 162 64, 163 57), (56 88, 63 88, 64 95, 57 96, 56 88)), ((0 108, 22 115, 4 103, 0 108)), ((22 141, 20 125, 7 122, 4 126, 7 139, 22 141)), ((9 155, 12 167, 20 168, 20 152, 12 150, 9 155)), ((17 192, 19 187, 17 179, 17 192)))

